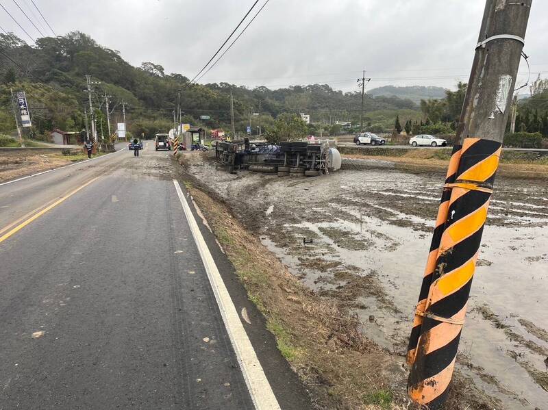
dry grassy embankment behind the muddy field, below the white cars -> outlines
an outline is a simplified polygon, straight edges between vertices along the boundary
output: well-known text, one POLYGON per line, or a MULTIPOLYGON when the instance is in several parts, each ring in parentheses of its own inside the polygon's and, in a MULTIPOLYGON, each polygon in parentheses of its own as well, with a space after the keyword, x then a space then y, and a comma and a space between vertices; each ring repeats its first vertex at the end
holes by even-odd
MULTIPOLYGON (((366 154, 348 153, 343 157, 353 159, 384 159, 394 162, 395 168, 410 172, 445 172, 451 149, 410 149, 401 150, 399 156, 383 155, 383 149, 368 150, 366 154)), ((504 151, 498 175, 512 178, 548 178, 548 156, 539 156, 516 151, 504 151)))

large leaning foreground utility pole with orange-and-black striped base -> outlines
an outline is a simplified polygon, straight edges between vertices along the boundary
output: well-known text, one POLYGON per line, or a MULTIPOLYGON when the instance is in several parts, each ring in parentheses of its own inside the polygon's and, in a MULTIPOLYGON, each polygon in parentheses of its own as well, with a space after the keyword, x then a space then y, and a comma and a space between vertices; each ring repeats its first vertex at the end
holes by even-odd
POLYGON ((425 271, 419 299, 425 290, 427 296, 416 307, 408 348, 408 394, 430 410, 442 409, 449 391, 531 4, 486 0, 457 130, 460 144, 438 212, 445 222, 434 231, 432 271, 425 271))

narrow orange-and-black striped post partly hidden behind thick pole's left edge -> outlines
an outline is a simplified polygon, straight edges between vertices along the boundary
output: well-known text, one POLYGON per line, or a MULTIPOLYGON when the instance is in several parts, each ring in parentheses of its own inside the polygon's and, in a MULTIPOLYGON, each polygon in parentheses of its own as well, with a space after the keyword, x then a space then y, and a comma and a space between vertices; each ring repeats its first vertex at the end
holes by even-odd
POLYGON ((452 190, 449 184, 455 182, 461 149, 462 145, 454 145, 451 159, 449 159, 449 168, 447 169, 447 176, 445 177, 446 185, 443 187, 443 193, 441 195, 440 207, 438 208, 438 216, 436 218, 436 228, 432 235, 432 243, 430 244, 430 252, 428 254, 423 283, 421 285, 421 292, 419 294, 419 302, 416 304, 413 329, 411 330, 411 335, 409 337, 409 346, 407 349, 408 365, 412 365, 415 361, 416 344, 419 342, 419 335, 421 334, 421 324, 423 324, 426 299, 430 290, 430 285, 432 285, 434 270, 436 270, 440 240, 445 229, 445 221, 447 220, 447 209, 449 209, 449 199, 451 198, 452 190))

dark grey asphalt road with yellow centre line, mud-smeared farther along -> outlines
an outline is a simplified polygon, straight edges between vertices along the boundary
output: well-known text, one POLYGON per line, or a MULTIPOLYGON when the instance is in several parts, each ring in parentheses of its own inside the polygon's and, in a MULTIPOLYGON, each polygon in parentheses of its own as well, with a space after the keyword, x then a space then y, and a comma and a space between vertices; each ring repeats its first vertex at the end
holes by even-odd
MULTIPOLYGON (((175 166, 151 147, 138 158, 126 149, 0 185, 0 409, 241 410, 260 402, 182 211, 175 166)), ((279 406, 309 409, 199 225, 234 307, 249 312, 251 324, 242 324, 279 406)))

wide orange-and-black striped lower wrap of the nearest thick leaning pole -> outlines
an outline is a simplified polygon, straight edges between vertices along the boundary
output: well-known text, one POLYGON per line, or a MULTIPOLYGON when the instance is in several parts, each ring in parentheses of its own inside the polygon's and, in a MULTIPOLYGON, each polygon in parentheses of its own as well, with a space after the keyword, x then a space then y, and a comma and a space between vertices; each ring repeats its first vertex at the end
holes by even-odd
POLYGON ((500 142, 466 138, 445 185, 451 198, 408 381, 410 398, 430 410, 443 408, 453 375, 500 154, 500 142))

